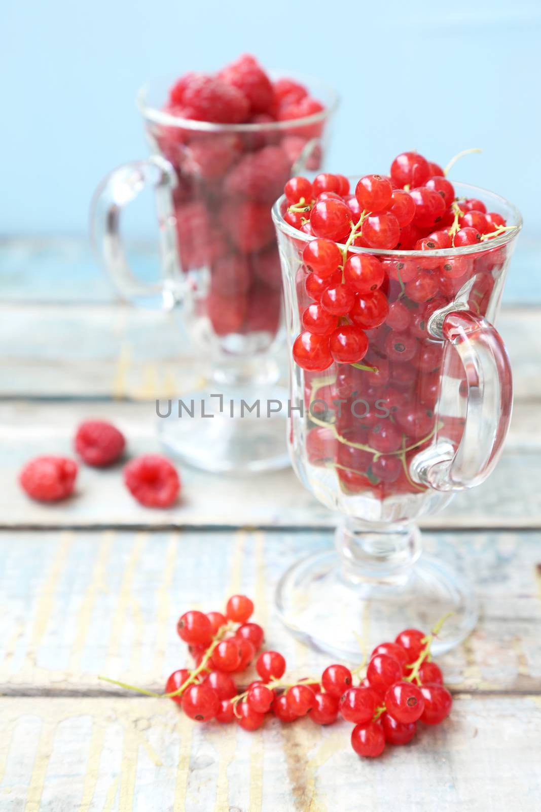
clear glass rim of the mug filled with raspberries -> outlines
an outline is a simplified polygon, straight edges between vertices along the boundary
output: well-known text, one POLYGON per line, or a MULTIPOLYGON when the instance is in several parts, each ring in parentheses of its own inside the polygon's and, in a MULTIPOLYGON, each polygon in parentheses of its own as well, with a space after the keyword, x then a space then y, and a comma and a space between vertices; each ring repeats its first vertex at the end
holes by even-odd
MULTIPOLYGON (((268 76, 273 79, 279 79, 286 76, 282 71, 268 71, 268 76)), ((287 78, 298 81, 299 84, 306 84, 308 87, 311 85, 320 85, 324 89, 331 101, 328 105, 324 106, 323 110, 311 115, 305 115, 302 119, 287 119, 286 121, 269 121, 265 123, 244 123, 244 124, 221 124, 212 121, 196 121, 195 119, 183 119, 182 116, 165 113, 164 110, 158 109, 156 106, 148 104, 148 94, 154 84, 159 81, 171 81, 166 76, 157 77, 154 80, 148 80, 137 92, 135 101, 140 113, 148 121, 155 124, 161 124, 162 127, 178 127, 182 130, 195 130, 198 132, 280 132, 281 130, 296 129, 297 127, 306 127, 310 124, 317 124, 325 119, 330 118, 331 115, 337 110, 340 102, 340 96, 337 90, 332 85, 327 84, 323 80, 317 79, 312 76, 305 76, 299 73, 287 72, 287 78)), ((323 103, 323 102, 322 102, 323 103)))

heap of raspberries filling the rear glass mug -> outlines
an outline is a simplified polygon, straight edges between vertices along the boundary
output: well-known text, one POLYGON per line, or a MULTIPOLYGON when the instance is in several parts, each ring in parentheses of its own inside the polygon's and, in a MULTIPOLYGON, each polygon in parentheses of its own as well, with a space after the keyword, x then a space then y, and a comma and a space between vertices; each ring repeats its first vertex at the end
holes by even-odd
MULTIPOLYGON (((148 123, 153 144, 178 176, 182 270, 210 271, 200 315, 217 335, 265 332, 270 340, 277 331, 281 271, 270 208, 307 142, 322 132, 320 121, 295 122, 322 110, 302 84, 271 80, 246 54, 215 75, 182 76, 164 107, 177 119, 224 127, 205 132, 148 123)), ((316 146, 308 168, 319 162, 316 146)))

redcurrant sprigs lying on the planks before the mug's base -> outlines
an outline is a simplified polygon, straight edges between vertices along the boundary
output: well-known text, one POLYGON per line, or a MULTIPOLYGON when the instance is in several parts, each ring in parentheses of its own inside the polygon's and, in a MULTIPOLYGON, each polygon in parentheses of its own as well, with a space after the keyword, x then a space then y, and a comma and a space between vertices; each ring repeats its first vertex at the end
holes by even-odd
POLYGON ((385 743, 407 744, 418 722, 435 725, 449 715, 453 700, 430 653, 443 620, 430 634, 408 628, 394 642, 380 643, 367 667, 350 670, 334 663, 318 678, 295 680, 285 676, 286 660, 278 651, 260 651, 264 629, 250 621, 253 610, 250 598, 233 595, 223 614, 185 612, 177 631, 188 644, 195 667, 173 672, 165 694, 151 695, 172 699, 197 722, 236 722, 247 731, 260 728, 269 716, 284 723, 307 716, 321 725, 341 717, 354 724, 354 751, 369 758, 379 756, 385 743), (259 679, 240 689, 234 675, 253 661, 259 679))

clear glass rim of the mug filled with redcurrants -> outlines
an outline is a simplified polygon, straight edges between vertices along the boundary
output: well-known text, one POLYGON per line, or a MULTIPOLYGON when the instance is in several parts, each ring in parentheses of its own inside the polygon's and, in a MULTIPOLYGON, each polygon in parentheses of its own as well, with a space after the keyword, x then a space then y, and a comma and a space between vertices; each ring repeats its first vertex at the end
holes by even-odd
MULTIPOLYGON (((361 177, 361 175, 349 176, 350 180, 357 180, 361 177)), ((480 253, 483 251, 490 250, 492 248, 500 248, 501 245, 506 245, 512 240, 514 240, 522 230, 522 214, 517 209, 517 206, 508 201, 505 197, 497 194, 496 192, 491 192, 489 189, 483 189, 480 186, 473 186, 472 184, 463 184, 462 181, 455 180, 450 181, 453 186, 460 186, 463 189, 468 189, 473 192, 469 197, 478 197, 479 194, 481 195, 488 195, 495 199, 495 202, 500 202, 500 204, 505 205, 511 213, 513 214, 513 219, 515 222, 511 223, 511 225, 516 226, 511 231, 504 231, 499 237, 495 237, 494 240, 484 240, 474 245, 463 245, 457 248, 431 248, 427 251, 405 251, 405 250, 398 250, 397 248, 363 248, 360 245, 350 245, 348 251, 351 253, 359 253, 359 254, 376 254, 376 256, 380 257, 389 257, 389 255, 393 257, 457 257, 462 255, 468 254, 475 254, 480 253)), ((298 229, 290 226, 288 222, 286 222, 281 214, 281 205, 286 201, 286 195, 281 195, 277 199, 277 201, 273 205, 272 214, 273 214, 273 221, 274 224, 284 231, 287 235, 294 238, 295 240, 302 240, 305 243, 311 242, 311 240, 316 240, 317 238, 310 234, 305 234, 303 231, 298 231, 298 229)), ((437 231, 435 227, 434 231, 437 231)), ((344 243, 338 243, 339 248, 346 248, 344 243)))

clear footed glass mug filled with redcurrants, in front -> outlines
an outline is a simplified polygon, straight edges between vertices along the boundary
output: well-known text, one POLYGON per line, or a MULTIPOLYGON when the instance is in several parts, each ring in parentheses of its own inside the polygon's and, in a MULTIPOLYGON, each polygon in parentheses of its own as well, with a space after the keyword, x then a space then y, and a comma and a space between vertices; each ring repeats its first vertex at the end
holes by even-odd
MULTIPOLYGON (((435 650, 462 641, 477 619, 465 579, 421 555, 414 522, 479 485, 500 457, 512 408, 512 378, 492 326, 522 225, 517 209, 483 189, 453 182, 516 228, 466 248, 425 252, 350 247, 382 261, 393 309, 367 329, 359 365, 306 372, 290 352, 289 444, 295 472, 320 502, 341 513, 335 551, 294 564, 277 587, 284 623, 304 641, 359 659, 369 619, 374 641, 401 628, 430 629, 448 612, 435 650), (442 270, 445 266, 445 272, 442 270), (411 284, 423 275, 424 290, 411 284), (410 283, 410 285, 408 284, 410 283), (403 306, 402 306, 403 305, 403 306), (392 319, 391 319, 392 321, 392 319), (295 408, 296 407, 296 408, 295 408), (300 407, 300 408, 299 408, 300 407)), ((302 252, 311 236, 274 205, 290 348, 313 299, 302 252)))

